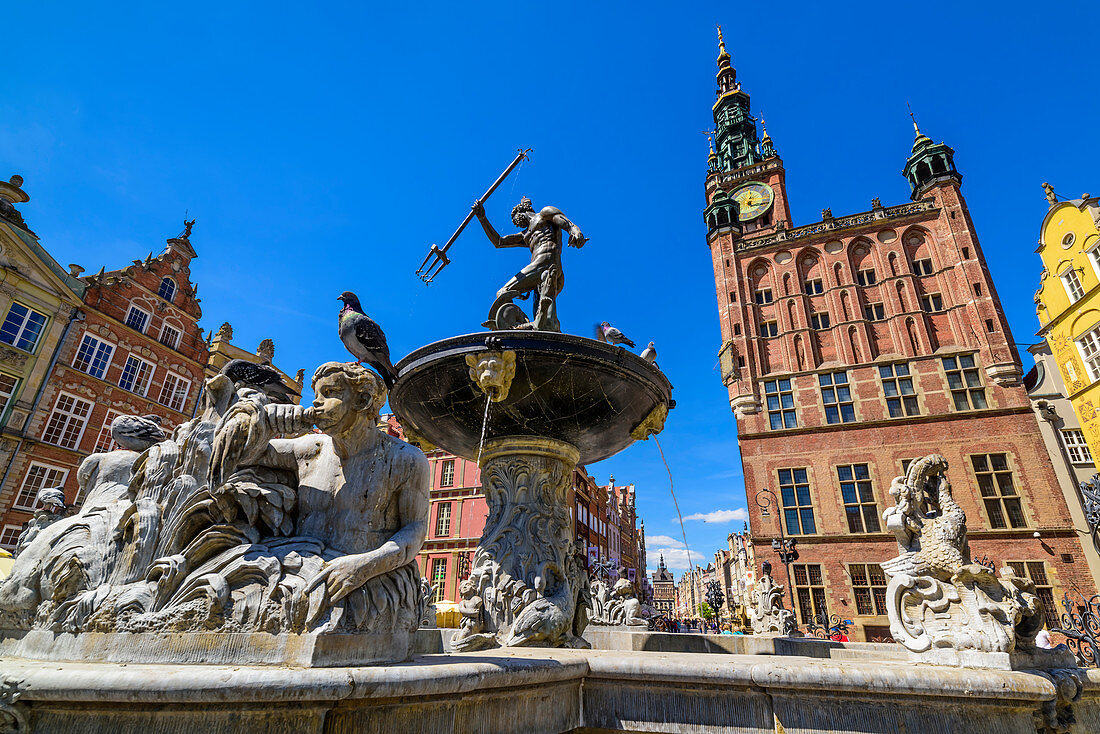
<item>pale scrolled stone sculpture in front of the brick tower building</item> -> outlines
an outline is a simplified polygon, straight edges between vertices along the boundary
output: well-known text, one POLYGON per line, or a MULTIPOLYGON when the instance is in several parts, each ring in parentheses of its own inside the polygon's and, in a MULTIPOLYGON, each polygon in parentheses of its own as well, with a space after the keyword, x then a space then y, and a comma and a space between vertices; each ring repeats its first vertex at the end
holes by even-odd
POLYGON ((947 460, 914 461, 890 485, 897 505, 882 513, 899 556, 882 563, 893 638, 912 653, 937 648, 1012 653, 1034 648, 1043 628, 1034 583, 970 560, 966 515, 952 495, 947 460))

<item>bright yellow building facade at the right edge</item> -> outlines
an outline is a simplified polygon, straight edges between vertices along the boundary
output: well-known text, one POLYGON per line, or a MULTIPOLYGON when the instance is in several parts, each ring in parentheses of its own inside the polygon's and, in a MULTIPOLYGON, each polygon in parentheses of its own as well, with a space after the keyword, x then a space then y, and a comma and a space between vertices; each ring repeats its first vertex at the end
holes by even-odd
POLYGON ((1043 259, 1035 294, 1040 336, 1046 339, 1093 464, 1100 457, 1100 199, 1087 194, 1058 201, 1044 184, 1050 208, 1036 252, 1043 259))

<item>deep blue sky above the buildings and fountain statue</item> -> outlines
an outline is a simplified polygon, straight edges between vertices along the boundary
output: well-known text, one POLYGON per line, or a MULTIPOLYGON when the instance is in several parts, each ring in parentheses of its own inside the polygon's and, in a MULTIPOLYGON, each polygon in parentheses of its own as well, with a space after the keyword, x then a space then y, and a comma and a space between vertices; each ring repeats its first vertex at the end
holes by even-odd
MULTIPOLYGON (((274 339, 293 374, 346 359, 344 289, 395 361, 477 330, 522 251, 494 252, 475 226, 431 287, 414 271, 534 147, 488 216, 510 231, 521 195, 560 207, 591 240, 565 253, 563 329, 609 320, 657 342, 675 385, 661 442, 680 507, 719 513, 686 521, 695 558, 745 507, 701 219, 716 22, 783 157, 796 224, 908 200, 906 101, 955 147, 1016 341, 1037 327, 1040 183, 1100 189, 1089 3, 397 6, 6 8, 0 175, 24 176, 30 227, 90 272, 160 252, 189 211, 202 325, 230 320, 246 347, 274 339)), ((651 551, 680 566, 652 441, 588 469, 637 484, 651 551)))

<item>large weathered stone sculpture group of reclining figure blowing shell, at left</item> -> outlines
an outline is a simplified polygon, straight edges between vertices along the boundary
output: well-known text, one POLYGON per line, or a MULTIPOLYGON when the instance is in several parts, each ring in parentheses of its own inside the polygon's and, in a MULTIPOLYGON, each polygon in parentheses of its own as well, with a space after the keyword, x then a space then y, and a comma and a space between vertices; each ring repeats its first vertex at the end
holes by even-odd
POLYGON ((0 629, 416 629, 428 462, 375 428, 374 373, 329 362, 312 386, 302 408, 217 375, 170 437, 88 457, 84 505, 0 583, 0 629))

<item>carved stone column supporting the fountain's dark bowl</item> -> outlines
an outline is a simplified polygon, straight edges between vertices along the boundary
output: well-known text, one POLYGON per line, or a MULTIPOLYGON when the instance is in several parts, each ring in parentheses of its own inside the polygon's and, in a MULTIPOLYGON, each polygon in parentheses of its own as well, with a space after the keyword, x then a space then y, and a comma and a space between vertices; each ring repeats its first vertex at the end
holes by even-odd
POLYGON ((548 438, 485 443, 488 518, 470 578, 460 587, 462 625, 452 649, 585 647, 587 583, 572 548, 569 486, 580 452, 548 438))

